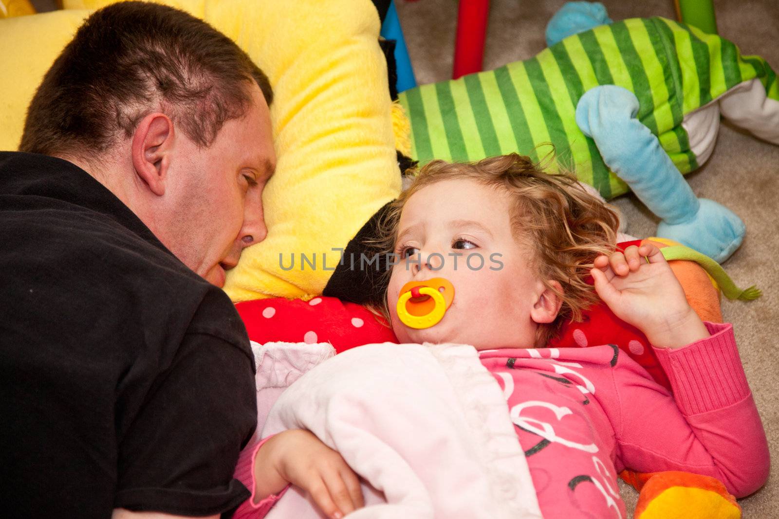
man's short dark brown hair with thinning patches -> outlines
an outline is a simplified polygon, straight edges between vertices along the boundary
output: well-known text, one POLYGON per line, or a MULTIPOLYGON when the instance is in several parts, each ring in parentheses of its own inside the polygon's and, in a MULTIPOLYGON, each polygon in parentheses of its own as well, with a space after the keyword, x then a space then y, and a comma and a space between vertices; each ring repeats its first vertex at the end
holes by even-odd
POLYGON ((121 2, 94 12, 38 87, 19 150, 88 159, 161 110, 207 147, 241 117, 256 82, 270 82, 248 55, 209 24, 178 9, 121 2))

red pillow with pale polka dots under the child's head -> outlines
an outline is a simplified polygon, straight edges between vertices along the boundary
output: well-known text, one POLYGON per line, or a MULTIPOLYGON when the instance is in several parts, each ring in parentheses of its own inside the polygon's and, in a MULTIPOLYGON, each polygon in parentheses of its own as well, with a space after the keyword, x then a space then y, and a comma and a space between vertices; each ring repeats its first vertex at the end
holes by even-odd
MULTIPOLYGON (((621 248, 640 241, 619 244, 621 248)), ((283 297, 237 303, 235 307, 246 325, 249 338, 266 342, 330 342, 336 352, 374 342, 397 342, 385 321, 357 303, 344 303, 335 297, 315 297, 310 301, 283 297)), ((643 366, 654 380, 670 389, 668 377, 657 356, 638 328, 616 317, 604 303, 583 313, 580 323, 563 325, 550 348, 615 344, 643 366)))

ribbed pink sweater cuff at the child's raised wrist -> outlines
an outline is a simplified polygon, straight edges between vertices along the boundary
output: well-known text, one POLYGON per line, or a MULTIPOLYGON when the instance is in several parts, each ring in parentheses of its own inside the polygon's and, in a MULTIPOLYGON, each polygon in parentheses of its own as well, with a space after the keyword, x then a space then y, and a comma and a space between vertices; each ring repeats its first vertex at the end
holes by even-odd
POLYGON ((682 348, 654 348, 686 416, 723 409, 749 396, 733 325, 704 323, 710 337, 682 348))

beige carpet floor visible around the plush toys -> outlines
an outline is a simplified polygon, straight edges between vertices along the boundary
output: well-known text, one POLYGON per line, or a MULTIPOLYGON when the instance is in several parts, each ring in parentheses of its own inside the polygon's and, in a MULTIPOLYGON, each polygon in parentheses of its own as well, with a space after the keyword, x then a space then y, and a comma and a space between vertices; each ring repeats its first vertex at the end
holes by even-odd
MULTIPOLYGON (((456 0, 396 0, 417 81, 449 79, 452 72, 456 0)), ((485 69, 530 58, 545 47, 544 30, 562 0, 492 0, 485 69)), ((636 16, 674 18, 672 0, 604 0, 612 19, 636 16)), ((715 0, 717 25, 723 37, 743 54, 760 54, 779 71, 779 2, 777 0, 715 0)), ((779 146, 759 142, 723 125, 714 155, 687 176, 696 195, 728 206, 746 223, 742 247, 724 264, 739 286, 756 284, 763 297, 751 303, 724 301, 726 321, 735 334, 768 434, 772 457, 779 457, 779 344, 771 331, 779 324, 779 146)), ((628 232, 654 234, 657 220, 633 195, 617 198, 628 232)), ((738 424, 734 424, 738 427, 738 424)), ((744 517, 779 517, 779 477, 772 472, 766 486, 741 500, 744 517)), ((636 493, 622 485, 628 510, 636 493)))

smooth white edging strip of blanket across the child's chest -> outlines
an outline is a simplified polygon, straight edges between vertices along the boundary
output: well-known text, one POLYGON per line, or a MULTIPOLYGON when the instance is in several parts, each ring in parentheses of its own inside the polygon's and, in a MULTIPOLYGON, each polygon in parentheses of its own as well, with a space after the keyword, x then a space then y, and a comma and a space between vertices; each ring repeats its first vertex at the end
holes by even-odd
POLYGON ((541 517, 527 459, 509 418, 506 398, 473 346, 425 343, 446 372, 487 468, 490 489, 506 519, 541 517))

